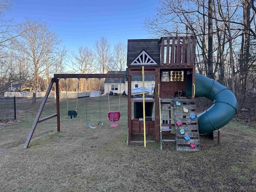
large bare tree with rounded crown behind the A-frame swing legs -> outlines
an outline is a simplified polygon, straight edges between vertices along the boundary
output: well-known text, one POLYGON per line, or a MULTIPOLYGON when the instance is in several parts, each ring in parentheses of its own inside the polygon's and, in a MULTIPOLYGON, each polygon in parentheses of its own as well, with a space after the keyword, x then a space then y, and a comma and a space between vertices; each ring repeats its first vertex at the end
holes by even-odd
MULTIPOLYGON (((50 30, 46 22, 31 21, 26 18, 26 22, 20 26, 17 32, 23 32, 16 40, 16 45, 20 52, 27 56, 31 74, 33 74, 32 87, 33 99, 36 102, 36 90, 41 89, 42 80, 46 76, 46 56, 50 54, 51 62, 54 64, 60 59, 59 52, 55 52, 60 44, 58 36, 50 30)), ((49 58, 49 57, 48 57, 49 58)))

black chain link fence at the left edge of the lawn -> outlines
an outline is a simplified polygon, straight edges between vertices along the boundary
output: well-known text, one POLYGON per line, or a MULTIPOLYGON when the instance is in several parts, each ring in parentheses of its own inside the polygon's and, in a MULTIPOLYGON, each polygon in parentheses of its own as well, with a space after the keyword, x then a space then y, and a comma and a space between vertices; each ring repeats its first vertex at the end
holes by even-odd
POLYGON ((0 120, 16 119, 15 97, 0 98, 0 120))

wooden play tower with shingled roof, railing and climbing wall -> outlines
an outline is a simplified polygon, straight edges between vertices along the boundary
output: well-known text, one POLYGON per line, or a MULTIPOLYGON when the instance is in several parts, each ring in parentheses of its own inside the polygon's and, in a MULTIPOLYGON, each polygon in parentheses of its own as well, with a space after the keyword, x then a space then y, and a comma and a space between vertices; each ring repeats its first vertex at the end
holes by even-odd
POLYGON ((200 150, 195 108, 195 43, 195 36, 128 40, 127 144, 150 142, 133 138, 152 134, 154 141, 160 141, 161 149, 162 142, 176 142, 177 150, 200 150), (155 77, 151 98, 131 94, 132 77, 142 75, 142 71, 145 76, 155 77), (141 102, 145 102, 143 114, 148 112, 144 118, 136 116, 136 106, 141 102), (152 109, 154 117, 150 114, 152 109))

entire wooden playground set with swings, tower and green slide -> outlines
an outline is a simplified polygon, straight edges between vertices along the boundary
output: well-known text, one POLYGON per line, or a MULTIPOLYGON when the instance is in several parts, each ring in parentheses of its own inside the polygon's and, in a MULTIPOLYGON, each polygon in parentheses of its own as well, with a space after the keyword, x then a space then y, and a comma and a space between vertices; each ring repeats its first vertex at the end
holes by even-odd
MULTIPOLYGON (((128 40, 126 74, 54 74, 24 148, 28 147, 39 122, 57 117, 57 131, 60 131, 58 96, 60 78, 78 78, 78 80, 80 78, 127 78, 126 144, 144 142, 146 147, 146 142, 160 141, 162 150, 163 142, 175 142, 177 150, 200 150, 200 135, 207 136, 228 124, 236 114, 238 104, 231 90, 206 76, 196 74, 195 38, 195 36, 177 36, 128 40), (142 76, 142 96, 134 96, 131 93, 133 76, 142 76), (144 92, 144 76, 154 76, 155 79, 154 94, 150 97, 144 92), (39 119, 54 83, 56 84, 57 113, 39 119), (212 106, 203 113, 197 114, 197 97, 212 100, 212 106), (143 141, 133 140, 134 135, 138 134, 144 135, 143 141), (146 140, 147 134, 154 135, 154 140, 146 140)), ((75 118, 76 115, 77 110, 72 112, 68 110, 70 118, 75 118)), ((108 118, 114 122, 113 127, 117 126, 115 122, 120 119, 119 110, 110 111, 108 118)), ((90 126, 87 120, 86 123, 90 128, 97 127, 90 126)))

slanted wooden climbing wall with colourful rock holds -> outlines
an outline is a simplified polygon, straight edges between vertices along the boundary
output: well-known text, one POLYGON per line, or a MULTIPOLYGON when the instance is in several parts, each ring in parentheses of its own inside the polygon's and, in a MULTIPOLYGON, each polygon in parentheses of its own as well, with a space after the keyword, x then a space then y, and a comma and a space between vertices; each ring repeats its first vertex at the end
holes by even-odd
POLYGON ((200 151, 195 100, 174 99, 176 148, 178 151, 200 151))

